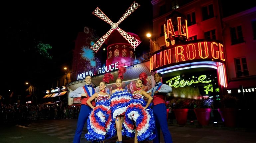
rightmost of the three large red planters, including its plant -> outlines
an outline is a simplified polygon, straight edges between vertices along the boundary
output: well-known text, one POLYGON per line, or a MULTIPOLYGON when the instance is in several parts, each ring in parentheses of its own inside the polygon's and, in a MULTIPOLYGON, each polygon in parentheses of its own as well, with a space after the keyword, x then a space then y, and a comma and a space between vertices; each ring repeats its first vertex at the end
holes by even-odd
POLYGON ((222 108, 218 108, 218 111, 222 121, 224 122, 224 125, 226 127, 235 127, 238 98, 226 94, 222 96, 220 103, 222 108))

